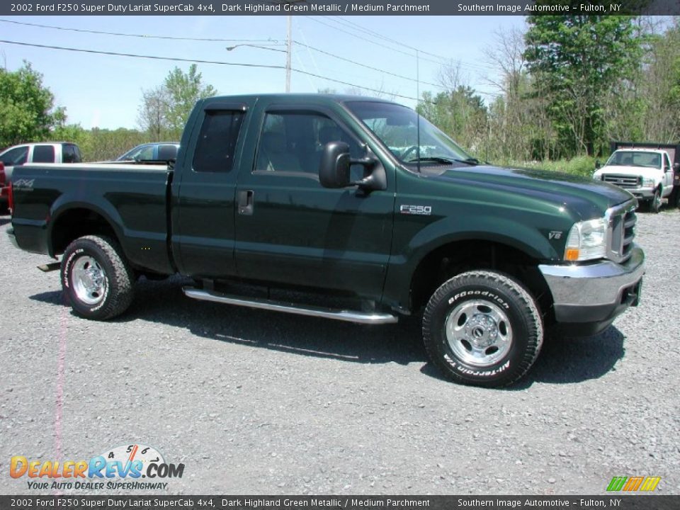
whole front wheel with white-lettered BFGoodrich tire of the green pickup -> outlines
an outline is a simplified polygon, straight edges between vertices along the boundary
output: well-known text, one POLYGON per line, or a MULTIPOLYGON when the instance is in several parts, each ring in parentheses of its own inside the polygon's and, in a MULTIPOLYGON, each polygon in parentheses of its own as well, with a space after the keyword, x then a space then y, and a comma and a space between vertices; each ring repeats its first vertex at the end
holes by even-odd
POLYGON ((521 378, 536 361, 543 322, 519 282, 494 271, 468 271, 430 298, 423 339, 431 362, 451 380, 499 387, 521 378))

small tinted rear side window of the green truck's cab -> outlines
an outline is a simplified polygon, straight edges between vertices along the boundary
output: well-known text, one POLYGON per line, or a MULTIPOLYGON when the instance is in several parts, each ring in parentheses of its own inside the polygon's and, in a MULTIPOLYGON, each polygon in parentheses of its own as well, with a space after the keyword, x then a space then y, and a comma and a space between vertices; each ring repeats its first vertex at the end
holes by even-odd
POLYGON ((205 112, 193 157, 194 171, 226 173, 232 170, 243 117, 242 111, 205 112))

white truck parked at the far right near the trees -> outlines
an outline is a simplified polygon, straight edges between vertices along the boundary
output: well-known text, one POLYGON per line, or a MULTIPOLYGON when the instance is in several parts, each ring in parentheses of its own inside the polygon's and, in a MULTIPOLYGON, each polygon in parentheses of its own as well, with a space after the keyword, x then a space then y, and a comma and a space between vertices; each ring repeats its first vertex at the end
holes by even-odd
POLYGON ((645 203, 650 212, 659 212, 662 199, 672 203, 675 154, 667 149, 625 147, 611 154, 606 164, 596 170, 593 178, 615 184, 633 193, 638 202, 645 203))

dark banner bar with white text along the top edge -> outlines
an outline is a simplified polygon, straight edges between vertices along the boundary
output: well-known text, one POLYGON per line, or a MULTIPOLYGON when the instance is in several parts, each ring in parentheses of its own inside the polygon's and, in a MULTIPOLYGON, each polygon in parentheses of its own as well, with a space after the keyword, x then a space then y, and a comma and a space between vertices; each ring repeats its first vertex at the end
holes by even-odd
POLYGON ((2 2, 2 16, 527 16, 680 15, 677 0, 26 0, 2 2))

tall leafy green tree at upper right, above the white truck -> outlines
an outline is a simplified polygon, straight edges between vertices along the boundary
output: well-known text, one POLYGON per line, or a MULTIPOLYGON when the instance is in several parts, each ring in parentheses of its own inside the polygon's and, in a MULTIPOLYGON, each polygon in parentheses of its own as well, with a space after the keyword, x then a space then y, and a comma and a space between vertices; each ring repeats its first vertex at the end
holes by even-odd
POLYGON ((630 79, 642 55, 632 16, 528 16, 525 57, 535 94, 548 102, 560 153, 604 144, 604 98, 630 79))

